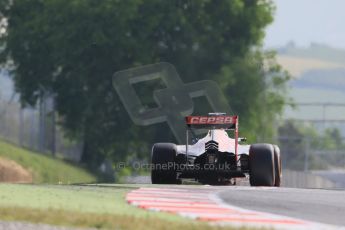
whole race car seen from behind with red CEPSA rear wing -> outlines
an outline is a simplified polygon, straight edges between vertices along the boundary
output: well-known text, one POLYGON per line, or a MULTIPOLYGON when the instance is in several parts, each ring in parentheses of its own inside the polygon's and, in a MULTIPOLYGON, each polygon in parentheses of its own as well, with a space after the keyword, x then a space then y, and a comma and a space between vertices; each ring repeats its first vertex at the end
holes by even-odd
POLYGON ((278 146, 240 145, 245 138, 238 137, 238 116, 189 116, 186 124, 186 145, 153 146, 153 184, 180 184, 181 179, 187 178, 202 184, 236 184, 236 178, 249 176, 251 186, 280 186, 282 164, 278 146), (197 139, 196 129, 208 130, 207 135, 197 139))

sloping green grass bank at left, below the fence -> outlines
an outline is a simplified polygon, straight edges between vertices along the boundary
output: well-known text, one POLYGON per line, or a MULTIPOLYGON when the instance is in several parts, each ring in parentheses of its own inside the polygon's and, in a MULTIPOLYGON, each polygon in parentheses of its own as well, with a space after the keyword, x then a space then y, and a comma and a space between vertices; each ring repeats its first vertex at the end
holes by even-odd
POLYGON ((70 184, 97 180, 96 176, 72 163, 34 153, 1 140, 0 157, 13 160, 32 172, 34 183, 70 184))

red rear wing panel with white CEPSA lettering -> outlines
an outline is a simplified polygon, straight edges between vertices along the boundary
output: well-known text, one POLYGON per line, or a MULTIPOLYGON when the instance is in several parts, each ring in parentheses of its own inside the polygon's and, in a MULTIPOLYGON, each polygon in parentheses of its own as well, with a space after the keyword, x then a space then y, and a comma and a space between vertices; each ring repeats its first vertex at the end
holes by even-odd
POLYGON ((188 128, 193 129, 235 129, 238 128, 238 116, 188 116, 188 128))

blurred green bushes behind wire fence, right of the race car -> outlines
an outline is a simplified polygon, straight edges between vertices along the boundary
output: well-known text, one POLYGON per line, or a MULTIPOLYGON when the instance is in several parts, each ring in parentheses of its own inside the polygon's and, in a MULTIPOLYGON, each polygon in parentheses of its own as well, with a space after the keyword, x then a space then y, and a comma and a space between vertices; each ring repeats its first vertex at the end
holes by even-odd
POLYGON ((338 128, 320 131, 314 125, 288 120, 278 133, 285 168, 308 171, 344 167, 345 142, 338 128))

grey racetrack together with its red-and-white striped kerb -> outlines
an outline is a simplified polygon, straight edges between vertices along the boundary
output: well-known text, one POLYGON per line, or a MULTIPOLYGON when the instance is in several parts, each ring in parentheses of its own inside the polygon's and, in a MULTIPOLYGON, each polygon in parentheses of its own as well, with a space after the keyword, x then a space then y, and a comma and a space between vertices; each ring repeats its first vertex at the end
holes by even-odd
POLYGON ((173 213, 216 225, 345 229, 343 191, 154 185, 132 190, 126 195, 126 200, 138 208, 173 213), (286 199, 281 199, 281 196, 286 199), (329 199, 330 196, 333 198, 329 199))

